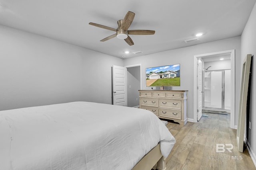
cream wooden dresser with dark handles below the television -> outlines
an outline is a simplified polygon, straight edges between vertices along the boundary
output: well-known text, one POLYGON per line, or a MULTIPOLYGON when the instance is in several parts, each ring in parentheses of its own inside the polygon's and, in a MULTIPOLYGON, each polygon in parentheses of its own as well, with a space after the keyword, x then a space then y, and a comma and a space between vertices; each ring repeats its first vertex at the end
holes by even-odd
POLYGON ((155 113, 159 118, 170 119, 185 125, 188 90, 139 90, 140 108, 155 113))

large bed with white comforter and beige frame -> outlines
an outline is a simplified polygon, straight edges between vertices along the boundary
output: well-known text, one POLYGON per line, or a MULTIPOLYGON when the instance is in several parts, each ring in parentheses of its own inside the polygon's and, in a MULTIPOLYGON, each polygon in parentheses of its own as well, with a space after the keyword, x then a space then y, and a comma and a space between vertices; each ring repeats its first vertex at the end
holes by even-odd
POLYGON ((175 143, 154 113, 93 102, 0 111, 0 136, 3 170, 161 170, 175 143))

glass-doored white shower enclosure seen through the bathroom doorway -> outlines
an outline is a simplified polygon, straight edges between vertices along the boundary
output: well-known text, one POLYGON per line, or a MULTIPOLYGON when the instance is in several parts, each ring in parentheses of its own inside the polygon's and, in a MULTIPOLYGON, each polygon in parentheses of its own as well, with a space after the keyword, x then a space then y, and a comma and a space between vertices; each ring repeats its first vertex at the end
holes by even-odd
POLYGON ((203 71, 203 109, 230 110, 231 71, 203 71))

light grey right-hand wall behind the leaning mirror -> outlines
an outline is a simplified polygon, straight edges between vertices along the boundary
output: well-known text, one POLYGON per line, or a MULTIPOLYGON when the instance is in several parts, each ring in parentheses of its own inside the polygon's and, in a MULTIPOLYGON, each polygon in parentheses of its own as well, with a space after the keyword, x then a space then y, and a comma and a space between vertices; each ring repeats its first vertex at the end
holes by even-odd
MULTIPOLYGON (((254 57, 252 58, 252 80, 251 80, 251 96, 250 96, 250 114, 249 119, 251 121, 251 129, 248 130, 248 143, 251 146, 252 152, 254 156, 252 157, 254 160, 254 165, 256 166, 256 4, 251 12, 250 18, 246 23, 244 31, 241 36, 241 61, 242 63, 247 54, 252 54, 254 57)), ((242 64, 240 64, 242 68, 242 64)), ((241 81, 241 76, 239 77, 241 81)), ((239 86, 240 87, 240 86, 239 86)))

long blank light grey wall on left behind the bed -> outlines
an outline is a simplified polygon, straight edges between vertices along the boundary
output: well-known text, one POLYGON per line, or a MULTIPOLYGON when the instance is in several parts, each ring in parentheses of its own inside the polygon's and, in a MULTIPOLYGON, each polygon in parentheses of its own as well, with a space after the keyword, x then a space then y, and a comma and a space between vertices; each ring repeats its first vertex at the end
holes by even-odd
POLYGON ((111 66, 122 59, 1 25, 0 37, 0 110, 111 104, 111 66))

